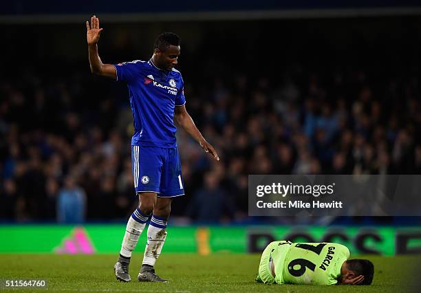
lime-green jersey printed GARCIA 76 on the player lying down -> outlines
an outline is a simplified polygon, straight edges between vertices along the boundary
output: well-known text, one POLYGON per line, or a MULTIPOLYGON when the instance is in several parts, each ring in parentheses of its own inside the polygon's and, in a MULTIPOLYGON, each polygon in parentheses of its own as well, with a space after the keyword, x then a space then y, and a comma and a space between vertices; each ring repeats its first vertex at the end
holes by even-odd
POLYGON ((334 285, 349 257, 338 243, 293 243, 283 263, 283 283, 334 285))

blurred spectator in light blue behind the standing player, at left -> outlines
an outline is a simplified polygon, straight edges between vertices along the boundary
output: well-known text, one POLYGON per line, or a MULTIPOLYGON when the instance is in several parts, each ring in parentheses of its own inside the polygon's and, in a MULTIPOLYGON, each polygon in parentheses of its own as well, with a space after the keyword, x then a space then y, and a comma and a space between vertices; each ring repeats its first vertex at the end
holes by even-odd
POLYGON ((65 184, 58 193, 57 218, 59 223, 79 224, 85 221, 86 195, 83 188, 76 185, 76 179, 67 175, 65 184))

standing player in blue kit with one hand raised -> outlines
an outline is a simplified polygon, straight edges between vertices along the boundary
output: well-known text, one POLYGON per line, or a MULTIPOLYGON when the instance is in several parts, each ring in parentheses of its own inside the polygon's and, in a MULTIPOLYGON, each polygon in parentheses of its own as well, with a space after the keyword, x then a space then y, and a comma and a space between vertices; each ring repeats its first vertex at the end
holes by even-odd
POLYGON ((91 72, 127 83, 133 112, 134 133, 131 139, 131 158, 139 207, 127 222, 120 256, 114 272, 120 281, 131 281, 129 263, 131 252, 147 220, 147 246, 139 281, 166 282, 153 266, 160 256, 166 239, 166 224, 173 197, 184 195, 180 156, 175 142, 174 118, 206 153, 219 160, 217 152, 195 127, 185 107, 184 82, 174 67, 180 55, 180 37, 172 32, 160 34, 155 41, 149 61, 132 61, 117 65, 103 64, 98 56, 97 43, 102 28, 99 19, 86 22, 91 72))

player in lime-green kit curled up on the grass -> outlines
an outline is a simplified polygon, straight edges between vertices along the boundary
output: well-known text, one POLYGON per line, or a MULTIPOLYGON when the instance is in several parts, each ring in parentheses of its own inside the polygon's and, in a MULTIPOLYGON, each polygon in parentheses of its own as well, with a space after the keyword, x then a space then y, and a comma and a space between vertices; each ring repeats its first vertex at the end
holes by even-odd
POLYGON ((338 243, 273 241, 261 254, 256 281, 265 284, 370 285, 374 265, 351 259, 338 243))

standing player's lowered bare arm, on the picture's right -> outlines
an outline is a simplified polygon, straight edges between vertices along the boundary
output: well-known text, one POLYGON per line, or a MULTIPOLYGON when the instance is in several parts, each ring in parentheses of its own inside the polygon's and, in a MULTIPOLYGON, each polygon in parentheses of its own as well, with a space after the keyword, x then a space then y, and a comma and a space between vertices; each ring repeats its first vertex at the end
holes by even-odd
POLYGON ((200 146, 202 146, 202 149, 204 149, 206 153, 210 153, 210 155, 212 155, 215 160, 219 161, 217 152, 213 146, 204 139, 202 133, 200 133, 199 129, 197 129, 195 122, 193 122, 193 119, 187 113, 186 105, 175 106, 174 118, 177 124, 182 127, 182 129, 187 131, 187 133, 190 134, 192 138, 199 142, 200 146))

